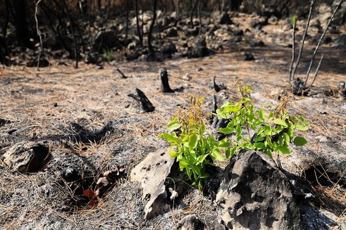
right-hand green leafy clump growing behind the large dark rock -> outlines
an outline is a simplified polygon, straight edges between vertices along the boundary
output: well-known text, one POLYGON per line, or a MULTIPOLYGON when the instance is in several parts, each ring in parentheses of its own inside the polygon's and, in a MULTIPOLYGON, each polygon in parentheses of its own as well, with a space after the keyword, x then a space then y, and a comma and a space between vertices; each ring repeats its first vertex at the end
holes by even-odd
POLYGON ((237 103, 225 102, 216 110, 217 117, 229 119, 227 127, 218 131, 224 134, 235 134, 228 138, 230 147, 226 157, 230 158, 238 149, 261 150, 272 156, 272 152, 290 154, 288 145, 297 146, 306 143, 302 136, 294 136, 294 131, 306 131, 308 122, 302 116, 293 116, 286 111, 290 103, 288 96, 272 108, 267 114, 263 108, 255 109, 250 98, 250 88, 236 81, 242 99, 237 103))

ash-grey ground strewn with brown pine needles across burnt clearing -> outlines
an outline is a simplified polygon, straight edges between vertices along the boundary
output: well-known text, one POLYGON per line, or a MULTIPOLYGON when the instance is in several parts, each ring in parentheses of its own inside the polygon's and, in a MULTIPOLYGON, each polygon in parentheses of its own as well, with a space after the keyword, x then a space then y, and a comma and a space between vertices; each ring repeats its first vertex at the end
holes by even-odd
MULTIPOLYGON (((218 223, 220 213, 213 197, 196 188, 179 194, 169 212, 145 221, 145 200, 139 184, 130 182, 130 170, 149 152, 167 146, 158 135, 166 131, 177 106, 188 105, 190 95, 205 97, 203 109, 212 111, 214 95, 218 104, 238 99, 233 83, 239 78, 254 88, 257 106, 277 104, 282 91, 289 90, 291 60, 287 47, 290 31, 281 30, 280 25, 263 28, 265 33, 258 38, 264 47, 229 45, 205 58, 113 62, 104 69, 86 64, 74 69, 72 62, 40 71, 0 69, 0 227, 175 229, 184 216, 196 214, 204 229, 224 229, 218 223), (244 52, 252 52, 255 61, 243 61, 244 52), (117 68, 129 77, 122 79, 117 68), (171 88, 182 91, 160 92, 160 68, 167 68, 171 88), (210 88, 213 76, 225 90, 216 93, 210 88), (154 112, 141 113, 128 97, 135 88, 145 93, 155 106, 154 112), (13 144, 26 140, 47 146, 52 157, 39 172, 12 172, 2 156, 13 144), (119 165, 125 165, 125 171, 101 198, 85 196, 87 189, 95 190, 105 171, 119 165), (91 199, 95 199, 94 206, 91 199)), ((311 44, 306 48, 299 73, 306 69, 312 53, 311 44)), ((289 109, 310 122, 309 131, 302 133, 308 143, 280 159, 286 170, 302 180, 307 178, 315 196, 311 202, 302 201, 305 228, 346 229, 346 101, 325 94, 346 80, 346 57, 331 45, 324 45, 321 52, 326 58, 312 92, 296 97, 289 109), (323 171, 327 166, 322 161, 316 163, 319 157, 338 164, 344 177, 331 178, 323 171)))

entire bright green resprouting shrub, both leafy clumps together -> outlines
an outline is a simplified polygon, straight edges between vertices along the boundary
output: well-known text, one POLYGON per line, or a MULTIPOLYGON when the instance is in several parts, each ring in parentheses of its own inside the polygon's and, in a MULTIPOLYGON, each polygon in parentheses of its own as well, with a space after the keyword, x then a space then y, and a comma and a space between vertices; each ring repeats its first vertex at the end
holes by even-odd
POLYGON ((206 165, 216 165, 215 160, 224 161, 225 157, 229 160, 237 150, 259 150, 272 156, 272 152, 291 153, 288 145, 292 142, 298 146, 306 143, 302 136, 294 136, 294 131, 306 131, 308 123, 302 116, 292 116, 286 111, 289 97, 267 113, 254 107, 249 87, 239 80, 236 85, 242 99, 237 103, 225 102, 215 114, 218 119, 229 120, 225 128, 218 130, 227 138, 216 141, 207 131, 201 111, 203 98, 194 97, 190 98, 191 106, 186 111, 178 108, 168 125, 170 132, 160 135, 171 143, 170 156, 176 157, 180 170, 199 190, 209 177, 206 165))

